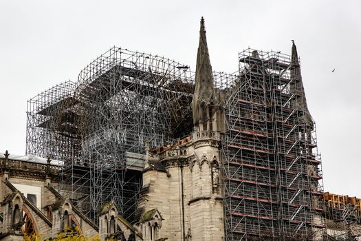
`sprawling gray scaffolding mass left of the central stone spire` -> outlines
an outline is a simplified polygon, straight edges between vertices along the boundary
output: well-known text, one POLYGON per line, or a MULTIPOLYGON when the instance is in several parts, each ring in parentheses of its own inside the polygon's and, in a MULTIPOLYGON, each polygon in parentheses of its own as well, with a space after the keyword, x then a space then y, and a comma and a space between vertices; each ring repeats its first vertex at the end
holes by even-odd
POLYGON ((59 189, 96 220, 113 200, 133 220, 144 140, 191 132, 193 73, 160 56, 113 47, 66 82, 28 101, 26 154, 64 160, 59 189))

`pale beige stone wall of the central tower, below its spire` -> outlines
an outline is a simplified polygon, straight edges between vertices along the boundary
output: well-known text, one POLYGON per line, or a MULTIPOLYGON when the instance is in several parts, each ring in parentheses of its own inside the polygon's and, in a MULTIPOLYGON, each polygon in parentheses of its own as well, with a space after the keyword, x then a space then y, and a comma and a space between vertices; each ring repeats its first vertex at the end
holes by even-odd
MULTIPOLYGON (((158 153, 161 158, 157 165, 163 165, 166 171, 144 170, 146 193, 140 198, 140 209, 143 214, 151 209, 160 211, 164 218, 160 238, 170 241, 183 240, 183 236, 196 241, 223 239, 220 177, 213 180, 212 171, 214 165, 220 166, 219 151, 213 137, 190 140, 158 153)), ((147 240, 146 227, 140 224, 140 229, 147 240)))

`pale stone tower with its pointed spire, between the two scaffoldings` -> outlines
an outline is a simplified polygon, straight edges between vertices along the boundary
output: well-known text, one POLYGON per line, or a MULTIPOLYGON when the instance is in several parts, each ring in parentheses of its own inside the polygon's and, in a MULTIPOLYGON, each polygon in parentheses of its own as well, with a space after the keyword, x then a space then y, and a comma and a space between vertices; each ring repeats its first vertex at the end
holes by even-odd
POLYGON ((213 85, 203 18, 199 34, 192 101, 194 132, 171 145, 146 149, 138 209, 144 240, 224 238, 219 159, 222 102, 213 85), (144 221, 155 211, 162 216, 162 226, 144 221))

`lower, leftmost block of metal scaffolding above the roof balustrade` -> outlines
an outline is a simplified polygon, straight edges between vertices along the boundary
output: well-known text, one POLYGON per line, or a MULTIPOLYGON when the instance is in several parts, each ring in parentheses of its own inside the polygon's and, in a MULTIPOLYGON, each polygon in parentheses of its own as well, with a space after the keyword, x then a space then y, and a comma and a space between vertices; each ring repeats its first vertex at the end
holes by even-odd
POLYGON ((28 101, 26 153, 57 160, 79 156, 80 142, 76 132, 76 115, 69 112, 76 103, 76 83, 66 81, 28 101))

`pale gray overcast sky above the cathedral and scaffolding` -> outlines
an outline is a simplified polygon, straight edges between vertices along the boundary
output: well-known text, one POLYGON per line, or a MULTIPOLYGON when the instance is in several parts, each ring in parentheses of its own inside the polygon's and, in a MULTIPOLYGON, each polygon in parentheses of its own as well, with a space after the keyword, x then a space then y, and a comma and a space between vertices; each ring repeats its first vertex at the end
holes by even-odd
POLYGON ((204 16, 214 70, 236 71, 248 47, 290 54, 295 39, 325 191, 361 198, 360 10, 361 1, 0 0, 0 152, 25 154, 29 98, 76 81, 113 45, 195 70, 204 16))

